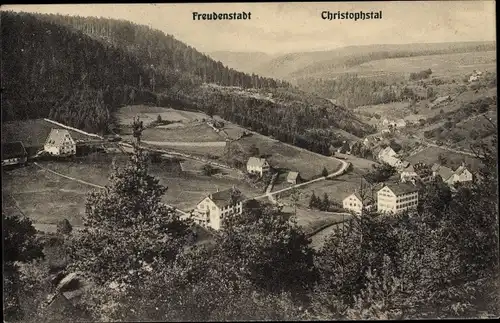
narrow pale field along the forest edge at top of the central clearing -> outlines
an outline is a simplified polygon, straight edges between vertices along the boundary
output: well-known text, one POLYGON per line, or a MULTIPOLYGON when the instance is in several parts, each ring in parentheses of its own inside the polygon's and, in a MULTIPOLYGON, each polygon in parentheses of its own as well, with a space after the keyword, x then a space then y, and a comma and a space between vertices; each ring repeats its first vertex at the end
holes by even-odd
POLYGON ((164 107, 151 107, 146 105, 132 105, 121 108, 116 117, 121 125, 130 125, 134 118, 139 118, 144 124, 149 124, 156 121, 158 115, 162 120, 172 122, 190 123, 193 121, 201 121, 202 119, 209 119, 209 117, 201 112, 181 111, 164 107))

